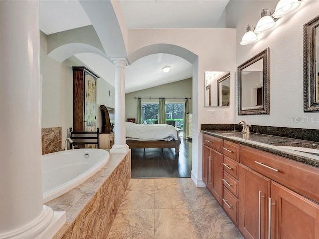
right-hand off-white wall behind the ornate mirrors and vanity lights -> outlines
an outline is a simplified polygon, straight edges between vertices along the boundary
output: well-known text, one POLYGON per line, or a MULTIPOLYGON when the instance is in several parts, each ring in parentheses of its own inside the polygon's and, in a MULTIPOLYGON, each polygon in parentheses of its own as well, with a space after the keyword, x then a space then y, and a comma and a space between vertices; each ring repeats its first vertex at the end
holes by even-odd
POLYGON ((270 115, 236 114, 235 122, 245 120, 255 125, 318 129, 318 122, 307 122, 307 118, 319 119, 319 113, 303 112, 303 24, 319 14, 319 1, 302 0, 297 11, 279 19, 276 28, 264 33, 257 43, 239 44, 247 24, 256 25, 262 9, 273 12, 277 2, 231 1, 227 6, 228 25, 235 26, 237 32, 237 66, 270 48, 270 115), (294 119, 297 120, 294 122, 294 119))

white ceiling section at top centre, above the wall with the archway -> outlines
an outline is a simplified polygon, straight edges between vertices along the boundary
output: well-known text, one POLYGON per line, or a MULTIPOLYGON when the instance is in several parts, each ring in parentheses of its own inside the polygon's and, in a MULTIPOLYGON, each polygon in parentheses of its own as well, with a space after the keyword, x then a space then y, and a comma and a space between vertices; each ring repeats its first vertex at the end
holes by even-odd
POLYGON ((229 0, 121 0, 128 28, 224 28, 229 0))

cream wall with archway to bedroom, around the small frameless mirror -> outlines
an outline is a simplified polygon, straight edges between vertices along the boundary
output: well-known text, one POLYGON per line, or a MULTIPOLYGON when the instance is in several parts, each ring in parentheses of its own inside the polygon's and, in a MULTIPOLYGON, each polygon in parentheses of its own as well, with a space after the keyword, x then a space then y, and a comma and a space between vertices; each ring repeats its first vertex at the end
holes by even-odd
MULTIPOLYGON (((193 63, 193 168, 192 178, 201 183, 202 177, 202 123, 233 123, 234 99, 231 106, 224 108, 204 107, 205 71, 229 71, 231 74, 231 95, 235 79, 235 29, 129 29, 128 55, 155 44, 169 44, 183 47, 198 57, 193 63), (208 118, 207 111, 214 109, 216 118, 208 118), (223 118, 224 111, 229 111, 230 118, 223 118)), ((167 48, 168 52, 171 53, 167 48)), ((186 59, 186 58, 185 58, 186 59)))

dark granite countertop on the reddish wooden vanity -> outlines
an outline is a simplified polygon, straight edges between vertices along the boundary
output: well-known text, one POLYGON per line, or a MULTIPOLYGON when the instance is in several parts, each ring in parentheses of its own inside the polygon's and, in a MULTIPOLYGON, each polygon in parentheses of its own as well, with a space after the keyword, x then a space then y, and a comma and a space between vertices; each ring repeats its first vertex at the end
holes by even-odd
POLYGON ((226 139, 231 142, 260 149, 269 153, 276 154, 288 159, 299 161, 311 166, 319 167, 319 154, 299 152, 279 146, 300 146, 319 150, 319 142, 285 138, 259 133, 242 133, 241 131, 231 130, 201 130, 201 132, 226 139))

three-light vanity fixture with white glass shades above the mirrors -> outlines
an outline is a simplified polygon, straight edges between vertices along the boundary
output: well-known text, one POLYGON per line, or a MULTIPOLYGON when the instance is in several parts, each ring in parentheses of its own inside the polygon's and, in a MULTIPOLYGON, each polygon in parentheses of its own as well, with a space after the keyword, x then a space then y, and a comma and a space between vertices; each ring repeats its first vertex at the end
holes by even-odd
POLYGON ((275 12, 271 15, 270 10, 263 9, 261 13, 261 18, 257 22, 256 29, 251 30, 254 28, 253 25, 248 25, 250 28, 247 27, 247 32, 244 34, 240 44, 241 45, 248 45, 251 43, 254 43, 258 40, 258 36, 256 34, 259 34, 261 32, 267 31, 275 27, 276 21, 282 17, 283 15, 287 14, 288 12, 291 12, 295 9, 297 9, 300 6, 301 0, 280 0, 277 5, 275 12), (250 32, 248 34, 248 32, 250 32), (255 36, 252 33, 256 33, 256 39, 255 36))

